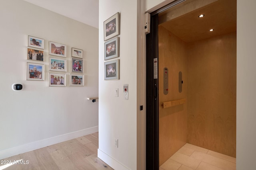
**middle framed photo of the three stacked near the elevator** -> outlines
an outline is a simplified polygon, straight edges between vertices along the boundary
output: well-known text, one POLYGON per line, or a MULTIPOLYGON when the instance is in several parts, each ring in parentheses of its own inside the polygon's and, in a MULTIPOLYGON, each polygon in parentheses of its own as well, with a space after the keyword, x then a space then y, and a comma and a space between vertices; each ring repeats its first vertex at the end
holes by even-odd
POLYGON ((119 57, 119 37, 106 41, 104 44, 105 60, 119 57))

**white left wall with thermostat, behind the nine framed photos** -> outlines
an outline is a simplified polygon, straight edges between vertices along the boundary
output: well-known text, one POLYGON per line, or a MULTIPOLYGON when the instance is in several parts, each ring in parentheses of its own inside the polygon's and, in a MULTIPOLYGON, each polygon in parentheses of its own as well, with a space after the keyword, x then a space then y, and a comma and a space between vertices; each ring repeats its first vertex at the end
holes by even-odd
POLYGON ((98 29, 22 0, 1 0, 0 23, 0 159, 98 131, 86 100, 98 97, 98 29), (44 62, 27 60, 28 35, 44 39, 44 62), (67 45, 67 79, 71 48, 84 50, 84 87, 48 86, 49 41, 67 45), (44 64, 44 81, 25 79, 26 62, 44 64))

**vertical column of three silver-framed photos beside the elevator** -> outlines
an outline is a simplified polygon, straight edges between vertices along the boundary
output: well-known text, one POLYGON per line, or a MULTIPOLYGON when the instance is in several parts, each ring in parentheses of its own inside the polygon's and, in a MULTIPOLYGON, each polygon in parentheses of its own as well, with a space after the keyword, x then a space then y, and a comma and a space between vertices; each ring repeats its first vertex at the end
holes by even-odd
POLYGON ((104 21, 104 80, 119 80, 120 13, 104 21))

